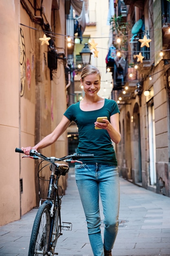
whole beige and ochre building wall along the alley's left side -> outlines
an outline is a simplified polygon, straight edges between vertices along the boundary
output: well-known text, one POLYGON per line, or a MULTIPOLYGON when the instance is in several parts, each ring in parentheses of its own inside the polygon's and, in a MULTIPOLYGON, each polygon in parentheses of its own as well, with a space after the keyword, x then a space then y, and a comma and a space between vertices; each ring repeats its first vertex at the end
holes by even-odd
MULTIPOLYGON (((33 4, 33 1, 31 2, 33 4)), ((40 2, 37 1, 39 5, 40 2)), ((66 54, 65 1, 60 1, 60 10, 55 11, 55 24, 51 22, 54 17, 51 13, 54 2, 43 1, 45 15, 49 24, 53 26, 52 29, 55 25, 55 33, 63 35, 52 35, 57 52, 62 49, 66 54)), ((26 3, 29 4, 29 1, 26 3)), ((34 14, 34 10, 31 11, 34 14)), ((4 225, 20 219, 21 215, 38 204, 38 162, 29 158, 22 159, 21 154, 15 153, 15 148, 34 146, 57 126, 66 110, 66 81, 63 60, 58 60, 58 67, 53 72, 51 81, 47 62, 48 46, 41 45, 39 40, 44 32, 40 25, 31 21, 19 0, 2 0, 0 16, 0 225, 4 225), (24 38, 25 73, 20 66, 20 54, 23 53, 23 48, 20 48, 20 28, 23 33, 22 39, 24 38), (25 87, 21 97, 22 75, 25 76, 25 87)), ((42 153, 56 157, 66 155, 66 133, 53 146, 42 150, 42 153)), ((49 171, 44 170, 41 176, 48 179, 49 174, 49 171)), ((44 198, 48 182, 40 183, 41 195, 44 198)), ((65 190, 66 178, 62 177, 60 183, 65 190)))

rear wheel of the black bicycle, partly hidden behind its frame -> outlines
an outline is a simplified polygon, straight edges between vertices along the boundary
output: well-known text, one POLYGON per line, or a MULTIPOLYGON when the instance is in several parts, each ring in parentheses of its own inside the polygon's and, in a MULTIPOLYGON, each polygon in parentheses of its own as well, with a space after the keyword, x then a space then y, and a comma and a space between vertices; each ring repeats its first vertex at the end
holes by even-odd
POLYGON ((51 239, 53 251, 55 249, 57 239, 60 236, 60 218, 59 218, 60 209, 59 209, 59 207, 60 207, 60 204, 58 204, 56 202, 55 203, 55 216, 54 216, 53 234, 52 234, 52 239, 51 239))

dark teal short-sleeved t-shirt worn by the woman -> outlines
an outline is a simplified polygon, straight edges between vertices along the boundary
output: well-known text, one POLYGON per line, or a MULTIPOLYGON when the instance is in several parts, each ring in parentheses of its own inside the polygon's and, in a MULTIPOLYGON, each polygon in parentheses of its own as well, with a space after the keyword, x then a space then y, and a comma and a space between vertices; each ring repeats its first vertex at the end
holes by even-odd
POLYGON ((111 164, 117 166, 115 150, 107 130, 95 129, 97 117, 107 117, 119 113, 116 101, 105 99, 104 106, 98 110, 83 111, 79 102, 68 107, 64 115, 75 121, 79 132, 77 153, 94 154, 94 158, 80 159, 83 163, 111 164))

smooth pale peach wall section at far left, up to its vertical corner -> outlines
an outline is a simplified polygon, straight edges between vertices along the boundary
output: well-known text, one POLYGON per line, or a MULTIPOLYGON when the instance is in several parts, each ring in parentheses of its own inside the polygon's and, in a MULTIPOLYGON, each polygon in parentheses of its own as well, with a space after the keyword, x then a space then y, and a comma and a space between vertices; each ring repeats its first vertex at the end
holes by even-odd
POLYGON ((0 225, 20 218, 19 2, 0 2, 0 225))

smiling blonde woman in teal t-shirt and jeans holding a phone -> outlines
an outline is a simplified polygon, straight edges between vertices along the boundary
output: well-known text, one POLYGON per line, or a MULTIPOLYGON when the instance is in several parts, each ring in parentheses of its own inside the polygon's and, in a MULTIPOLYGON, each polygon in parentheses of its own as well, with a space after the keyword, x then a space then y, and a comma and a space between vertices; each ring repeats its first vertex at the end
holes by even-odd
MULTIPOLYGON (((94 154, 92 159, 82 159, 83 164, 75 164, 75 179, 86 216, 89 240, 94 256, 112 256, 119 215, 119 173, 112 141, 119 143, 121 135, 117 103, 97 95, 100 80, 96 67, 87 65, 83 68, 80 81, 85 92, 84 99, 69 106, 55 130, 33 149, 53 144, 71 121, 75 121, 79 129, 77 153, 94 154), (102 118, 103 122, 98 122, 97 117, 105 118, 102 118), (104 213, 104 241, 100 229, 99 195, 104 213)), ((22 150, 29 155, 31 148, 22 147, 22 150)))

